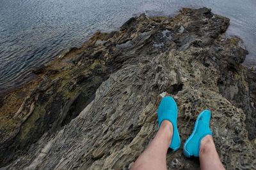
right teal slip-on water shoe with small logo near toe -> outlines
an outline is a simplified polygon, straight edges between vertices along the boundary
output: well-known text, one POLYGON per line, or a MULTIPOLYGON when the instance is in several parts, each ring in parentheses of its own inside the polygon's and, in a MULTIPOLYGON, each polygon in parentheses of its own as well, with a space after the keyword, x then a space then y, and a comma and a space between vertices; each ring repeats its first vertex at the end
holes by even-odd
POLYGON ((209 126, 211 111, 204 110, 198 115, 192 134, 184 144, 183 152, 186 157, 199 157, 201 140, 207 135, 212 136, 209 126))

